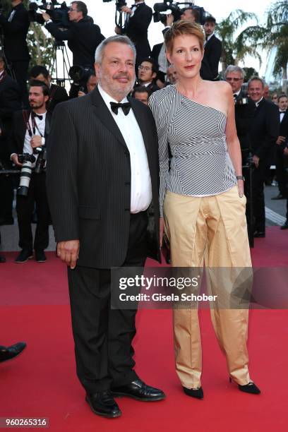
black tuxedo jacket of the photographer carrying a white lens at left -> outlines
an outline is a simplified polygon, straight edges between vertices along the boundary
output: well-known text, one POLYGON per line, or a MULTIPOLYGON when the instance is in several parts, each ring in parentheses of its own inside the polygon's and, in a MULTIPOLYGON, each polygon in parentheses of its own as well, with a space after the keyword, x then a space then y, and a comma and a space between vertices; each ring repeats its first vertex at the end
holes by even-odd
MULTIPOLYGON (((28 119, 31 114, 31 111, 27 111, 28 119)), ((47 145, 47 138, 49 136, 49 130, 50 130, 50 124, 51 124, 51 115, 49 112, 46 114, 46 120, 45 120, 45 145, 47 145)), ((24 140, 25 140, 25 134, 26 134, 26 123, 23 117, 23 111, 22 109, 20 111, 17 111, 13 115, 13 134, 12 134, 12 140, 11 140, 11 147, 10 147, 10 154, 17 153, 22 154, 23 153, 23 146, 24 146, 24 140)))

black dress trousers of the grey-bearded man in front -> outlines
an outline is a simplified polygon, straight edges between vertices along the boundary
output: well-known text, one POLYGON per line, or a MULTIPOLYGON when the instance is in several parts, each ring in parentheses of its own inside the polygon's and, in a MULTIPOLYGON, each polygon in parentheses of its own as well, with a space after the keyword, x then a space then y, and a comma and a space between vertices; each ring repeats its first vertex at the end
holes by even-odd
MULTIPOLYGON (((124 267, 145 265, 147 225, 147 212, 131 214, 124 267)), ((68 268, 77 375, 89 393, 126 385, 138 378, 133 370, 132 347, 137 311, 111 309, 110 282, 110 269, 68 268)))

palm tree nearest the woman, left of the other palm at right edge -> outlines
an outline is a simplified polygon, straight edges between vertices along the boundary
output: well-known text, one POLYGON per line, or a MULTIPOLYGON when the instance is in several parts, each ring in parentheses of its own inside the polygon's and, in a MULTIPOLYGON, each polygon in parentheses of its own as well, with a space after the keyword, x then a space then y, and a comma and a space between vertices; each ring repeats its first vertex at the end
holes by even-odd
POLYGON ((256 20, 257 16, 255 13, 244 12, 241 9, 236 9, 229 14, 227 18, 224 18, 220 23, 217 24, 217 35, 222 40, 222 71, 224 71, 229 64, 239 64, 239 61, 244 60, 246 56, 256 56, 260 62, 260 54, 258 53, 254 44, 244 43, 244 39, 247 40, 247 31, 250 28, 246 28, 236 36, 236 32, 239 31, 248 20, 256 20))

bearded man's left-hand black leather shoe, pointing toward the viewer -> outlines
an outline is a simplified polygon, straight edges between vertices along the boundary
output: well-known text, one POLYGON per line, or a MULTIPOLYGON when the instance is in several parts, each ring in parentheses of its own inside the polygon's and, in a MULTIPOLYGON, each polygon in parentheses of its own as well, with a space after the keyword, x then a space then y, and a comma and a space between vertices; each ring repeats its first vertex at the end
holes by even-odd
POLYGON ((98 414, 98 416, 114 419, 122 414, 119 406, 114 401, 110 390, 92 393, 91 395, 87 393, 85 400, 90 405, 92 412, 98 414))

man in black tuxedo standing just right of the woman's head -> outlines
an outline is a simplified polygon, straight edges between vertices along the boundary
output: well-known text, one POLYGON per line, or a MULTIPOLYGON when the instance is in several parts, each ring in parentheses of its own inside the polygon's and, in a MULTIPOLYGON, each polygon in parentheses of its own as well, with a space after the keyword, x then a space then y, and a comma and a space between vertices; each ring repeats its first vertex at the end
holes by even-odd
POLYGON ((206 37, 204 56, 200 68, 200 76, 203 80, 214 81, 218 78, 218 66, 222 54, 222 43, 220 39, 215 36, 215 26, 215 18, 208 16, 203 25, 206 37))

